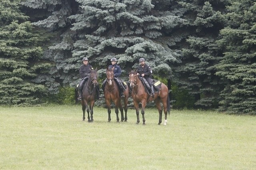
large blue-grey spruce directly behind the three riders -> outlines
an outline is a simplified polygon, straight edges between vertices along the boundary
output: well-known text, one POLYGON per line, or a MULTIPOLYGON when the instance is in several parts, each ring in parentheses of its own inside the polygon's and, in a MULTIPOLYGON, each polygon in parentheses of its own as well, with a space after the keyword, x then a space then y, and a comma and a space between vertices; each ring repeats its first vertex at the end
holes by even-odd
MULTIPOLYGON (((72 72, 77 72, 82 57, 102 68, 105 78, 110 59, 116 57, 123 72, 135 70, 144 57, 153 74, 170 78, 170 65, 176 61, 177 51, 170 47, 179 41, 166 30, 178 28, 184 21, 170 11, 168 0, 78 0, 81 14, 74 19, 72 31, 78 33, 74 43, 72 72)), ((178 36, 177 36, 178 37, 178 36)), ((122 74, 127 76, 127 74, 122 74)), ((78 79, 78 75, 77 75, 78 79)))

